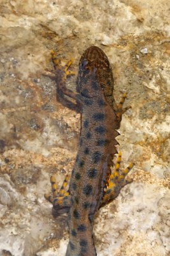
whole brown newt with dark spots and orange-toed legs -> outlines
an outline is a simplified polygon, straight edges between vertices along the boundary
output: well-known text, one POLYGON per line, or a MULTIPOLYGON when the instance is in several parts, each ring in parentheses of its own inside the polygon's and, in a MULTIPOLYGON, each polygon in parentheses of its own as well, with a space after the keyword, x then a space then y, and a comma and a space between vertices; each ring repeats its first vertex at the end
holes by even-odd
MULTIPOLYGON (((55 62, 53 55, 56 66, 55 62)), ((121 154, 118 155, 115 172, 111 174, 113 156, 117 153, 115 145, 118 144, 115 137, 118 136, 122 113, 126 110, 122 109, 126 94, 117 106, 113 98, 110 63, 99 47, 89 47, 80 58, 80 93, 74 93, 64 85, 69 75, 66 74, 67 67, 63 70, 58 68, 57 84, 64 95, 81 104, 80 143, 68 191, 68 176, 58 192, 52 177, 53 196, 45 195, 45 198, 52 202, 53 214, 68 212, 69 244, 66 256, 96 256, 92 233, 94 214, 132 181, 125 180, 132 164, 121 174, 119 172, 121 154)))

